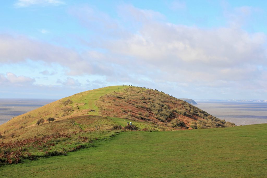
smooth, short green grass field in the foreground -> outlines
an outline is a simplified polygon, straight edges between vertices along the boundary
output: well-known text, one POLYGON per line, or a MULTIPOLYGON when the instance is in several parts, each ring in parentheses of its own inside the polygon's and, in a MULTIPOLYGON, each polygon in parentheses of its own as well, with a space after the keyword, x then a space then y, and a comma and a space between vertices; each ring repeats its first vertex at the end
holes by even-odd
POLYGON ((267 124, 122 132, 93 148, 0 167, 1 177, 267 177, 267 124))

